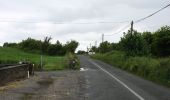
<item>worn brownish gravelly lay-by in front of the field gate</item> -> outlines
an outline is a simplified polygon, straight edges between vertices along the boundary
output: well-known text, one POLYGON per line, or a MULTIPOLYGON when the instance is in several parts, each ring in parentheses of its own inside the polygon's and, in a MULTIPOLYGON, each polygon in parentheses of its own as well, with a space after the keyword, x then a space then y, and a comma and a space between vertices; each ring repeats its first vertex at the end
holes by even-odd
POLYGON ((36 72, 29 79, 0 87, 0 100, 86 100, 80 71, 36 72))

